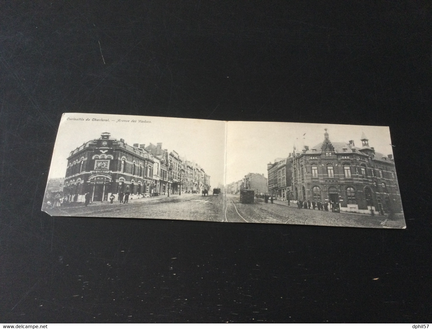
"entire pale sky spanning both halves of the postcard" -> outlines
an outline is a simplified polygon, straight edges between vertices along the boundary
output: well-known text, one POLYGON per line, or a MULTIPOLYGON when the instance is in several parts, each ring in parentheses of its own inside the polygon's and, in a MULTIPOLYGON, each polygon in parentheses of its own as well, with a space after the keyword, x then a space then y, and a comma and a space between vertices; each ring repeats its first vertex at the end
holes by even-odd
POLYGON ((225 138, 226 183, 231 183, 248 172, 267 177, 267 163, 287 157, 295 144, 301 150, 304 145, 312 148, 322 143, 324 128, 328 129, 330 141, 347 143, 353 139, 356 146, 362 145, 360 138, 364 132, 369 146, 385 155, 393 154, 388 127, 243 121, 226 125, 224 121, 214 120, 68 113, 60 122, 49 178, 64 177, 71 150, 100 138, 102 132, 109 132, 111 138, 123 138, 129 145, 162 142, 163 149, 175 150, 181 157, 198 163, 210 175, 212 187, 216 187, 224 182, 225 138), (67 118, 83 118, 84 121, 67 118), (92 121, 93 118, 109 121, 92 121))

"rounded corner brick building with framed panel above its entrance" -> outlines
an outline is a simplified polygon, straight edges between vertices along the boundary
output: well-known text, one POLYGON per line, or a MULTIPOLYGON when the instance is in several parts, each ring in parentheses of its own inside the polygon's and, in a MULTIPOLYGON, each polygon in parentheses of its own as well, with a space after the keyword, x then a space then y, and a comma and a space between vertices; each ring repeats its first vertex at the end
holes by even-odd
POLYGON ((69 202, 108 201, 108 195, 129 191, 130 198, 150 196, 154 190, 152 154, 111 138, 108 132, 70 152, 64 181, 69 202))

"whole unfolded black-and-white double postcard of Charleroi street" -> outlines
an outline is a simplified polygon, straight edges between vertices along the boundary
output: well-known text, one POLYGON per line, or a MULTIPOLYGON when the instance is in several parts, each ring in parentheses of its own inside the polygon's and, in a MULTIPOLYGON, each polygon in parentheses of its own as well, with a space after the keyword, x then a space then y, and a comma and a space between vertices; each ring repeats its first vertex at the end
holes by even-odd
POLYGON ((388 127, 64 113, 52 216, 405 228, 388 127))

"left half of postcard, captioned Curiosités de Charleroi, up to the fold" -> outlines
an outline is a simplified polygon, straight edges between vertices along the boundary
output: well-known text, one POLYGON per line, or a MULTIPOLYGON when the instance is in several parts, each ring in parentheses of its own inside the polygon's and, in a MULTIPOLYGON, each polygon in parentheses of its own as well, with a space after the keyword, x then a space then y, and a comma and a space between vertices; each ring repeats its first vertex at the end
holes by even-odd
POLYGON ((223 121, 65 113, 42 210, 222 221, 225 138, 223 121))

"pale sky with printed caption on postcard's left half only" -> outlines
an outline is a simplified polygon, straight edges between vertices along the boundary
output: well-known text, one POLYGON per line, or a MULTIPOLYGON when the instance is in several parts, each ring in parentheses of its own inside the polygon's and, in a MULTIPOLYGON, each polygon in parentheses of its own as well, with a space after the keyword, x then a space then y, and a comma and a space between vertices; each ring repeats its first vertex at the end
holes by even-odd
POLYGON ((225 128, 225 122, 214 120, 67 113, 60 121, 49 177, 64 177, 70 151, 100 138, 102 132, 109 132, 111 138, 123 138, 129 145, 162 143, 162 149, 168 149, 168 152, 175 150, 181 157, 198 163, 210 175, 210 184, 216 187, 224 181, 225 128), (67 118, 89 118, 90 121, 67 118), (110 121, 92 121, 93 118, 110 121), (119 119, 137 122, 117 122, 119 119), (151 123, 140 123, 138 120, 151 123))

